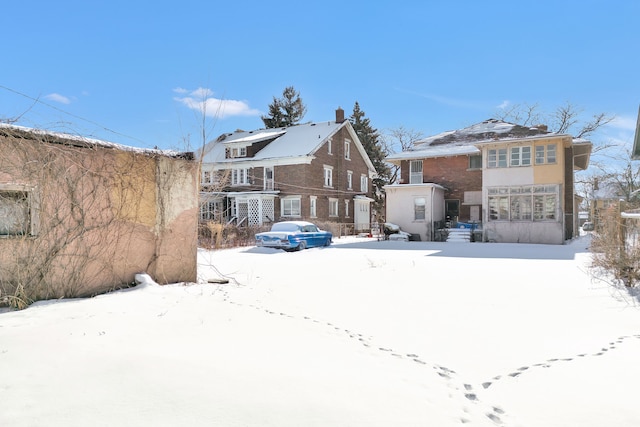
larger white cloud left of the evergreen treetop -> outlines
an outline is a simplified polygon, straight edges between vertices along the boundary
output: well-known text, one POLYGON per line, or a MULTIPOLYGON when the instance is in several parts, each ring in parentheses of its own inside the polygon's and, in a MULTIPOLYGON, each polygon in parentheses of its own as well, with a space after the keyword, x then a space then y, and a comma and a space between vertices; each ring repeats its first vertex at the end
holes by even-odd
POLYGON ((174 99, 188 108, 204 112, 206 116, 224 119, 232 116, 258 116, 260 111, 249 107, 246 101, 233 99, 220 99, 214 97, 211 89, 198 88, 191 92, 184 89, 174 89, 174 92, 186 96, 175 97, 174 99), (188 95, 187 95, 188 93, 188 95))

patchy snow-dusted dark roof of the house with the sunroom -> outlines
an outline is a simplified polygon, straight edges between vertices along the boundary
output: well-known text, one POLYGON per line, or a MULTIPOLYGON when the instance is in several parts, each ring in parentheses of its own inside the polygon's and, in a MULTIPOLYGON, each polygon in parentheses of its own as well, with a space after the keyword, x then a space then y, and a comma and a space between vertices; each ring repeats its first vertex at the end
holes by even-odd
POLYGON ((521 126, 502 120, 488 119, 463 129, 442 132, 418 140, 411 150, 391 154, 387 157, 387 160, 397 161, 477 154, 480 153, 480 149, 476 145, 483 142, 556 135, 558 134, 548 132, 546 126, 521 126))

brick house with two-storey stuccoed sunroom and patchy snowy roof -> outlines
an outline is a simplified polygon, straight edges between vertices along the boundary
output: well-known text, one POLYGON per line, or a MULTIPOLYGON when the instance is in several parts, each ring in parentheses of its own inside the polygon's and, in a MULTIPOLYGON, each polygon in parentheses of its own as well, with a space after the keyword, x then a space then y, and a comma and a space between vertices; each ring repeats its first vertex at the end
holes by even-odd
POLYGON ((546 126, 490 119, 444 132, 387 158, 401 167, 400 182, 386 187, 387 220, 407 231, 425 222, 403 218, 401 223, 389 216, 389 206, 399 204, 405 211, 413 206, 422 218, 415 198, 422 203, 424 195, 414 196, 415 190, 410 193, 403 186, 437 184, 444 188, 442 208, 439 193, 427 199, 435 203, 434 221, 422 227, 427 240, 435 238, 442 217, 453 226, 481 224, 484 240, 563 243, 578 233, 574 171, 587 168, 590 154, 589 141, 548 132, 546 126))

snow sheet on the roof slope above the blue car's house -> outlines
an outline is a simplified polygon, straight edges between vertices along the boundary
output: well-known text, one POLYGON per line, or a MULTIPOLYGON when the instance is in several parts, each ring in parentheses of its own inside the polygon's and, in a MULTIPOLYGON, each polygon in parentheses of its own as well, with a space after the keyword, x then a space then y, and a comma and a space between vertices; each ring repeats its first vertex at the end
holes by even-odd
POLYGON ((278 158, 293 158, 309 156, 335 134, 340 127, 348 122, 335 121, 306 123, 279 129, 258 129, 241 131, 225 135, 217 141, 208 143, 204 148, 204 163, 236 162, 239 159, 226 159, 225 147, 229 144, 266 141, 274 138, 266 147, 258 151, 255 156, 246 160, 259 161, 278 158))

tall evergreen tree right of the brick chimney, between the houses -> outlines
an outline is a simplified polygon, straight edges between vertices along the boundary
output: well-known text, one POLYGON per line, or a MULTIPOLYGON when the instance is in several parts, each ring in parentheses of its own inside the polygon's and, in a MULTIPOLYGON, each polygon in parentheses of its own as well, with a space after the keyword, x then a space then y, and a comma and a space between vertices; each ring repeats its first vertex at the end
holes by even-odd
POLYGON ((376 212, 384 212, 384 191, 382 187, 389 183, 391 170, 384 160, 386 153, 380 135, 378 130, 371 126, 371 122, 365 117, 365 113, 360 109, 360 104, 357 101, 349 121, 377 172, 377 176, 372 180, 373 198, 375 200, 374 209, 376 212))

